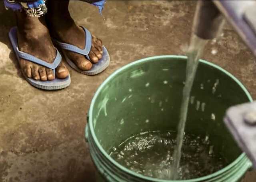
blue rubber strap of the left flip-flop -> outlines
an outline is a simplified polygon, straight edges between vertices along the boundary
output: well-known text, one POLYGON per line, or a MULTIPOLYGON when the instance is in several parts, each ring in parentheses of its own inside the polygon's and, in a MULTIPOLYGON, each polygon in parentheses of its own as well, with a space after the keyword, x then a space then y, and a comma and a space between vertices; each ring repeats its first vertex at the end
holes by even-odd
POLYGON ((18 55, 19 55, 20 58, 26 59, 28 61, 31 61, 33 63, 37 63, 39 65, 42 65, 44 67, 51 68, 51 69, 55 69, 56 67, 58 67, 58 65, 60 64, 60 61, 62 59, 58 49, 56 49, 57 54, 56 54, 56 57, 55 57, 53 63, 47 63, 47 62, 43 61, 42 59, 38 59, 37 57, 34 57, 34 56, 32 56, 28 53, 24 53, 22 51, 19 51, 18 47, 17 47, 17 51, 18 51, 18 55))

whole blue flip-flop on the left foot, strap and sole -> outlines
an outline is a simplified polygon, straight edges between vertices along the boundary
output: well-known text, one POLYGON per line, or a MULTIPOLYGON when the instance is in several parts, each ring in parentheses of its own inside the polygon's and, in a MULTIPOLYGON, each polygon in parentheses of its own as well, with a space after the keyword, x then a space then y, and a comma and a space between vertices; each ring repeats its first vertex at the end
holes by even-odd
MULTIPOLYGON (((42 65, 47 68, 51 68, 55 74, 55 68, 58 67, 60 64, 60 61, 62 59, 59 51, 56 49, 56 58, 54 59, 53 63, 47 63, 41 59, 38 59, 37 57, 34 57, 32 55, 29 55, 28 53, 24 53, 22 51, 19 51, 18 49, 18 39, 17 39, 17 27, 12 27, 9 32, 9 38, 12 43, 12 47, 16 53, 17 59, 20 63, 20 59, 26 59, 28 61, 31 61, 33 63, 37 63, 39 65, 42 65)), ((41 81, 41 80, 34 80, 32 78, 28 78, 26 74, 22 71, 22 74, 24 75, 25 79, 30 83, 32 86, 35 86, 36 88, 41 88, 44 90, 58 90, 62 88, 66 88, 70 85, 70 75, 64 79, 55 78, 54 80, 48 80, 48 81, 41 81)))

